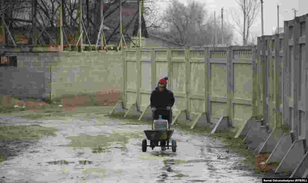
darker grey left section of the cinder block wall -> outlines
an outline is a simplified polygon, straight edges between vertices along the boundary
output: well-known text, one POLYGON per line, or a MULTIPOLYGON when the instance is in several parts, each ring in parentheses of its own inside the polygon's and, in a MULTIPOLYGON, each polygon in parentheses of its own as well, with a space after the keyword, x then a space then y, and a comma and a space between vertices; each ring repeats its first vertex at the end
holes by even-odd
POLYGON ((8 53, 17 56, 17 67, 0 67, 2 95, 49 98, 50 63, 57 53, 8 53))

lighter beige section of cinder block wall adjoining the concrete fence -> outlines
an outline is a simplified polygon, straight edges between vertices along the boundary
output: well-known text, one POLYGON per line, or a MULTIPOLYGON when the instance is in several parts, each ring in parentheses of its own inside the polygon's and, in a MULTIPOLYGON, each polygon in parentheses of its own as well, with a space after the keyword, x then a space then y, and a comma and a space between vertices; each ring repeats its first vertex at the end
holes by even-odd
POLYGON ((93 94, 108 87, 120 91, 123 83, 121 52, 63 52, 51 72, 51 98, 93 94))

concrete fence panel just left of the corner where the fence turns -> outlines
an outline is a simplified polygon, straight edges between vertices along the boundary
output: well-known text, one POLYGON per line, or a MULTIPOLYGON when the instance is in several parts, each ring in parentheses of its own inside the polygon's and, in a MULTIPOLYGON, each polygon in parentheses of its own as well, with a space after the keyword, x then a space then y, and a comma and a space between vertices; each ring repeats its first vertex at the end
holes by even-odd
POLYGON ((240 128, 253 115, 253 76, 256 74, 252 47, 234 47, 231 50, 230 86, 231 108, 229 116, 232 125, 240 128))

